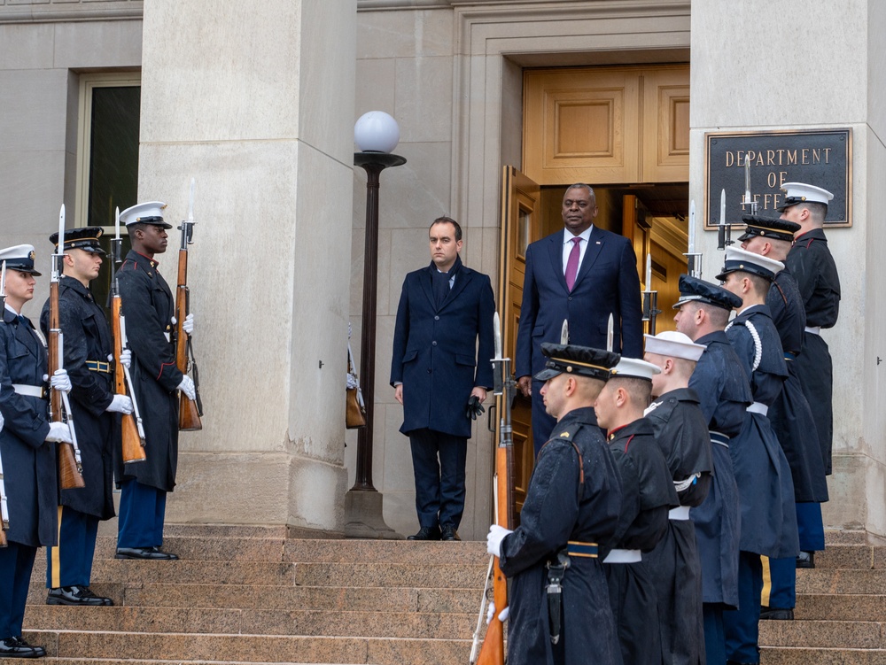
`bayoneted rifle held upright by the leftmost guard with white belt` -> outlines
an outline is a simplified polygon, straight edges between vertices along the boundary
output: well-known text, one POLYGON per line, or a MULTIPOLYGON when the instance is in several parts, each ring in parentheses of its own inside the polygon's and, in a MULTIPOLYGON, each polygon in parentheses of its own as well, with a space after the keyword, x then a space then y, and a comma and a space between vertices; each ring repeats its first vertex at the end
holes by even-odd
MULTIPOLYGON (((65 344, 61 330, 61 317, 58 313, 58 283, 65 267, 65 204, 61 205, 58 213, 58 247, 52 255, 52 271, 50 282, 50 335, 49 335, 49 375, 55 374, 56 370, 65 367, 65 344)), ((80 457, 80 446, 77 445, 77 435, 74 432, 74 417, 71 413, 71 405, 67 400, 67 393, 62 390, 50 389, 50 420, 53 422, 65 422, 71 431, 72 443, 58 442, 58 478, 63 490, 73 490, 85 487, 83 481, 83 465, 80 457)))

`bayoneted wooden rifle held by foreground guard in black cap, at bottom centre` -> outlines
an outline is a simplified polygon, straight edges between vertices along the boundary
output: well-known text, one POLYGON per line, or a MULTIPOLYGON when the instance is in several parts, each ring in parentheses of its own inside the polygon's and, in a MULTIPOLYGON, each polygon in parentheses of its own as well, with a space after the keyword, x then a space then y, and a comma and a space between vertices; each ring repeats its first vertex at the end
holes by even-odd
MULTIPOLYGON (((512 452, 514 448, 513 429, 510 422, 510 403, 517 390, 517 382, 510 375, 510 359, 501 357, 501 322, 496 312, 494 318, 495 358, 493 363, 494 395, 499 421, 499 444, 495 450, 495 523, 505 529, 511 529, 511 505, 514 495, 514 480, 511 476, 512 452)), ((492 558, 493 600, 495 612, 486 627, 486 638, 480 649, 477 660, 477 638, 474 634, 474 645, 470 653, 470 665, 504 665, 504 625, 498 618, 505 607, 508 607, 508 580, 499 568, 498 557, 492 558)), ((488 576, 487 576, 488 577, 488 576)), ((485 593, 485 592, 484 592, 485 593)), ((483 607, 480 607, 480 616, 483 607)))

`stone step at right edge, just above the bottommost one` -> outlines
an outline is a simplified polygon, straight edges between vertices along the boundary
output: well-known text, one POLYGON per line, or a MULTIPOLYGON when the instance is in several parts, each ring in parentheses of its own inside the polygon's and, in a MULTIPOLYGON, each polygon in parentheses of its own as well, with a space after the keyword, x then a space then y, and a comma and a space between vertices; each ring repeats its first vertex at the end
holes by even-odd
POLYGON ((762 621, 760 644, 839 649, 886 649, 882 622, 762 621))

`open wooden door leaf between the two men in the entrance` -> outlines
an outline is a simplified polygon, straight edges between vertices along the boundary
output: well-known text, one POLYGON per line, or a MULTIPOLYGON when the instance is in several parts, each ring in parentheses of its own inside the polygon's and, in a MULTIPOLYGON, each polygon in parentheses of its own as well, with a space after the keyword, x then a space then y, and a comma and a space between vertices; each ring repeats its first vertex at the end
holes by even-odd
MULTIPOLYGON (((501 317, 501 350, 517 355, 517 325, 523 302, 526 247, 540 239, 540 187, 513 166, 504 166, 501 178, 501 253, 499 259, 498 308, 501 317)), ((511 371, 514 367, 511 366, 511 371)), ((523 508, 532 476, 532 401, 519 393, 511 409, 514 437, 514 502, 523 508)), ((498 422, 496 422, 496 430, 498 422)), ((498 440, 498 431, 496 431, 498 440)))

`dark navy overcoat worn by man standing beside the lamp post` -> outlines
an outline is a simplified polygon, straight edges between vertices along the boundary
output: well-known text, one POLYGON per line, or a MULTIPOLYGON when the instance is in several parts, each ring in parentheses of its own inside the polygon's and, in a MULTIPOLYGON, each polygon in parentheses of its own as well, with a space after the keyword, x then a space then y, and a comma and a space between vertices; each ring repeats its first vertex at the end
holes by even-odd
POLYGON ((464 410, 475 386, 491 388, 495 303, 488 275, 463 267, 438 308, 429 267, 406 275, 393 331, 391 385, 403 383, 403 426, 470 437, 464 410), (479 345, 478 345, 479 339, 479 345))

